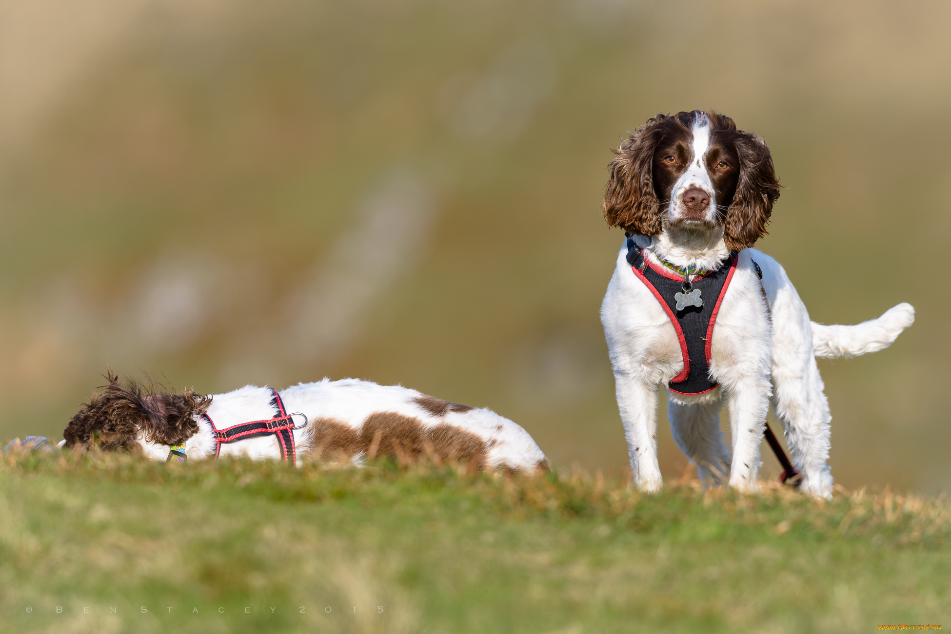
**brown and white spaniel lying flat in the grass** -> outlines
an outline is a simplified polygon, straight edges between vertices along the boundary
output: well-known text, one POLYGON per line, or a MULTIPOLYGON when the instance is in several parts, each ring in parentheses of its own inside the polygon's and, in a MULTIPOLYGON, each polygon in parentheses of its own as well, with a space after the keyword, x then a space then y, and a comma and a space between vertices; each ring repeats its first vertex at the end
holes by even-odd
POLYGON ((471 469, 547 470, 532 436, 511 420, 399 386, 358 379, 281 392, 248 385, 227 394, 154 394, 107 375, 102 394, 69 421, 67 447, 144 451, 156 460, 303 455, 362 464, 375 456, 471 469))

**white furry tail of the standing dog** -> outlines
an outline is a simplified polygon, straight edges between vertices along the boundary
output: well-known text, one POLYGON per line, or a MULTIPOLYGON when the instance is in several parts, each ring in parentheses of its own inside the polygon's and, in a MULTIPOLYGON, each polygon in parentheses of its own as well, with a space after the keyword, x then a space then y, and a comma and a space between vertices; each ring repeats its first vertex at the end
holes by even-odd
POLYGON ((906 303, 892 306, 878 319, 854 326, 824 326, 813 321, 814 354, 821 358, 835 358, 875 353, 890 346, 914 321, 915 309, 906 303))

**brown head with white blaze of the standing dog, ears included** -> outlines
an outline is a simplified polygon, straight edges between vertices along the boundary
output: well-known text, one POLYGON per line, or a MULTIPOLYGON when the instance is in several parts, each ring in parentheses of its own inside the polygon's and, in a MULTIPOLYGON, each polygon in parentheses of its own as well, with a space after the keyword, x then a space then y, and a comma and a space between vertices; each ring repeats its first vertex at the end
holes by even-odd
POLYGON ((649 119, 615 150, 605 191, 611 226, 641 236, 665 227, 719 230, 730 249, 766 233, 779 198, 767 144, 715 112, 649 119))

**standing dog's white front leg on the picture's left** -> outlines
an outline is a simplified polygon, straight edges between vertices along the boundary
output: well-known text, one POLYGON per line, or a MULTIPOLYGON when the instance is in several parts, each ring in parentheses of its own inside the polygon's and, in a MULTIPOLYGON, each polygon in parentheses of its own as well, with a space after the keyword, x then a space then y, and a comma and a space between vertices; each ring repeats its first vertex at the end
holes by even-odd
POLYGON ((617 407, 624 421, 634 484, 655 492, 664 486, 657 464, 657 387, 631 375, 614 375, 617 407))

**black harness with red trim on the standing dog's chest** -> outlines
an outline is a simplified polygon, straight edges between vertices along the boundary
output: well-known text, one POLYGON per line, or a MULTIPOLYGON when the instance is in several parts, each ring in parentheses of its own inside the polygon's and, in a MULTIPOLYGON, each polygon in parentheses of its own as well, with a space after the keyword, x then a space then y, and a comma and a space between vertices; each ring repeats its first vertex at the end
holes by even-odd
POLYGON ((628 263, 648 287, 670 318, 680 342, 684 370, 668 383, 677 394, 704 394, 717 386, 709 378, 710 339, 720 303, 736 270, 737 252, 731 251, 723 266, 688 280, 689 274, 673 271, 650 262, 641 248, 628 238, 628 263))

